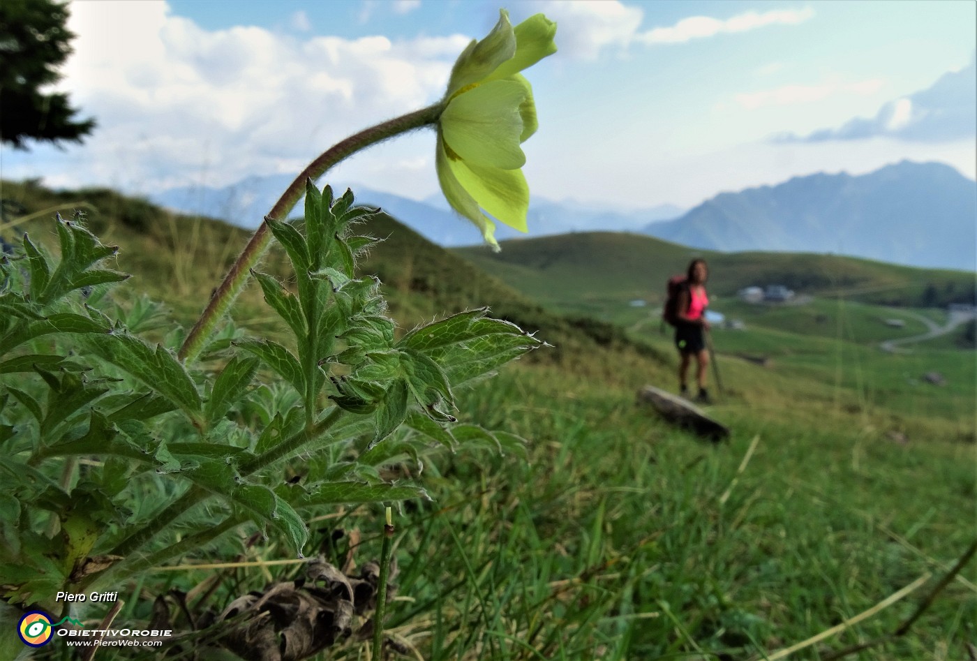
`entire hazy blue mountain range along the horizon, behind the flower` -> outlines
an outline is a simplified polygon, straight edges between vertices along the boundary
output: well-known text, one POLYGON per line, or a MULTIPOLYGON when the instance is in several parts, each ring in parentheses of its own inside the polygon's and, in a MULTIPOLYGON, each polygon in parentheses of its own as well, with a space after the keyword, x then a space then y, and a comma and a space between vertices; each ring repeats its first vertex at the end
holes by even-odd
MULTIPOLYGON (((150 200, 256 227, 291 178, 255 176, 224 188, 175 188, 150 200)), ((440 195, 415 200, 352 188, 360 203, 382 207, 429 241, 443 246, 481 242, 478 230, 460 221, 440 195)), ((532 198, 528 223, 532 237, 630 232, 724 252, 836 253, 972 271, 977 262, 977 182, 942 163, 902 161, 864 175, 816 173, 777 186, 722 193, 687 211, 671 204, 627 211, 532 198)), ((500 241, 525 236, 498 224, 500 241)))

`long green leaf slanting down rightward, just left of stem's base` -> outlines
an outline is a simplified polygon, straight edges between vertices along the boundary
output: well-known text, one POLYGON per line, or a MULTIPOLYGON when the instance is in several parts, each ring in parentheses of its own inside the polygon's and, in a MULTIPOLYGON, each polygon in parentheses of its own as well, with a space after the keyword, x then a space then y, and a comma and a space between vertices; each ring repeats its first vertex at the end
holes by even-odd
POLYGON ((107 362, 169 399, 191 419, 199 419, 200 395, 186 368, 168 349, 158 344, 153 348, 127 333, 90 335, 86 345, 107 362))

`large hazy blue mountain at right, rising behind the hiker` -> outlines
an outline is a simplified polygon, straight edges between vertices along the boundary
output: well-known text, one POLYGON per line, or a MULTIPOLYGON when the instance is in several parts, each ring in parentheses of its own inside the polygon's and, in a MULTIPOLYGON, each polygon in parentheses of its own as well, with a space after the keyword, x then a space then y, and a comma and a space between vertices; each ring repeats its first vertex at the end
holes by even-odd
POLYGON ((723 193, 645 233, 698 248, 820 252, 973 271, 977 182, 904 160, 860 176, 818 173, 723 193))

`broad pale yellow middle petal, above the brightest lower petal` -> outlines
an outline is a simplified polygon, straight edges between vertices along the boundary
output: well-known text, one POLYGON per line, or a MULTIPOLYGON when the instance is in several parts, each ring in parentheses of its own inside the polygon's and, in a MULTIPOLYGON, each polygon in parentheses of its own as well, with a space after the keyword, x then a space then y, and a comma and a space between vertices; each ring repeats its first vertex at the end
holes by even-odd
POLYGON ((441 114, 451 151, 478 165, 513 170, 526 163, 520 107, 527 87, 517 80, 493 80, 462 92, 441 114))

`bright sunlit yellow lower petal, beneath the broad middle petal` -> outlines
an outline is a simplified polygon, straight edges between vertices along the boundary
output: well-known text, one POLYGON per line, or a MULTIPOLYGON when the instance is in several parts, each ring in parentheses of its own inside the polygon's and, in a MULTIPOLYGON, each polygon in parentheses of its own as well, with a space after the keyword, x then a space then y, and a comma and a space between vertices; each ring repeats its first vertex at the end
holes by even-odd
POLYGON ((529 231, 526 211, 530 207, 530 187, 522 170, 502 170, 450 158, 446 164, 479 206, 509 227, 529 231))

